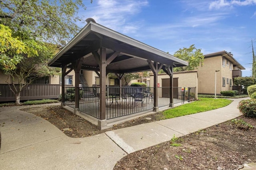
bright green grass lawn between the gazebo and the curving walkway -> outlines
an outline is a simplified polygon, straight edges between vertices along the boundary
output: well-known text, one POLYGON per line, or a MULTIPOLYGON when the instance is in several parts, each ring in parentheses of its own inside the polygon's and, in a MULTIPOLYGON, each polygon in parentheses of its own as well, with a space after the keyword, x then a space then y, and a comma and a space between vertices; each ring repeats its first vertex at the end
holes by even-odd
POLYGON ((194 101, 192 103, 188 103, 185 105, 180 105, 173 109, 168 109, 163 112, 162 119, 170 119, 174 117, 180 117, 184 115, 191 115, 194 113, 200 113, 205 111, 210 111, 214 109, 218 109, 220 107, 224 107, 229 105, 232 101, 228 99, 213 99, 213 98, 205 98, 199 97, 198 101, 194 101))

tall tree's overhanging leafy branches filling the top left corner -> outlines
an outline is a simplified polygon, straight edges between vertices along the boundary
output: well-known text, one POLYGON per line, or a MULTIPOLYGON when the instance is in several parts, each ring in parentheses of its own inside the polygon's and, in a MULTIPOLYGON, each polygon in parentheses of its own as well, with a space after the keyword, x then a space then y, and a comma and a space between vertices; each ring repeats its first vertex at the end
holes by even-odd
POLYGON ((76 22, 84 23, 79 8, 86 10, 82 0, 0 0, 0 24, 38 40, 70 40, 80 30, 76 22))

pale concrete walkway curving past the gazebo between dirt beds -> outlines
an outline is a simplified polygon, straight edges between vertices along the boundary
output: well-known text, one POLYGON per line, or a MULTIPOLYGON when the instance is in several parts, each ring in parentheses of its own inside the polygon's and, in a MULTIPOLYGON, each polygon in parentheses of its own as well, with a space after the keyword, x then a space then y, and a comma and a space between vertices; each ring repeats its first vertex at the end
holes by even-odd
POLYGON ((169 141, 174 134, 183 136, 240 116, 237 105, 243 99, 213 111, 86 138, 70 138, 48 121, 20 111, 28 106, 0 108, 0 169, 112 170, 127 154, 169 141))

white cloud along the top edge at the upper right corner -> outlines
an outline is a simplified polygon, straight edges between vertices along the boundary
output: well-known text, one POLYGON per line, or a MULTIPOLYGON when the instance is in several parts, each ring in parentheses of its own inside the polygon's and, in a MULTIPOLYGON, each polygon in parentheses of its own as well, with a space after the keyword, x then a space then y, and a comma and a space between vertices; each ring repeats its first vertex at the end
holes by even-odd
POLYGON ((233 5, 236 6, 248 6, 256 4, 256 0, 217 0, 210 3, 209 9, 220 9, 222 7, 229 6, 232 8, 233 5))

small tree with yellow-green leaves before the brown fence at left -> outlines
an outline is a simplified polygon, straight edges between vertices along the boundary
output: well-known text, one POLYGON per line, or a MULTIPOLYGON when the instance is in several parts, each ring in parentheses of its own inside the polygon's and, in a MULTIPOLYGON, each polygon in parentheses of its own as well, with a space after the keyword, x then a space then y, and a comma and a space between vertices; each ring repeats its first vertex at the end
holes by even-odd
POLYGON ((55 69, 46 67, 47 61, 53 56, 54 48, 47 48, 46 43, 37 42, 24 32, 13 34, 8 26, 2 24, 0 42, 0 70, 8 75, 11 84, 8 80, 6 83, 15 94, 16 104, 19 105, 20 92, 26 85, 37 77, 56 72, 55 69))

